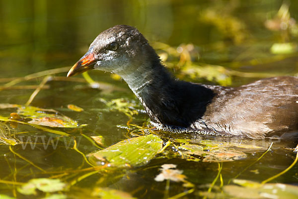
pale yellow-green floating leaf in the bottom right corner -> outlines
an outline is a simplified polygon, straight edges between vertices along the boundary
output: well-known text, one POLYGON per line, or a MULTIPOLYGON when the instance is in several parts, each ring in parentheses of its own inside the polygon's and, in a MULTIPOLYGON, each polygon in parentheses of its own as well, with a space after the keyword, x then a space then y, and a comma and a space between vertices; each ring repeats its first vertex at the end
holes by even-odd
POLYGON ((286 184, 260 184, 247 180, 233 180, 235 184, 226 185, 224 192, 241 199, 297 199, 298 186, 286 184))

